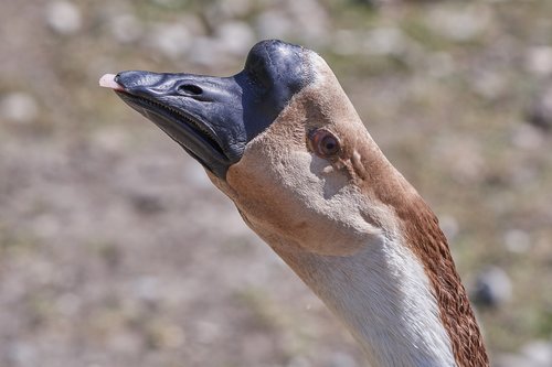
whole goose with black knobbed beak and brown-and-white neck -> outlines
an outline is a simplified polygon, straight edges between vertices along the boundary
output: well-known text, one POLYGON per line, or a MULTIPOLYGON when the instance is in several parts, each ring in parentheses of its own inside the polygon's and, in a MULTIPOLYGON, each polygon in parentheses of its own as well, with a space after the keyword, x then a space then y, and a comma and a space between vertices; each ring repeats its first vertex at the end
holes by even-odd
POLYGON ((203 165, 370 366, 489 365, 437 217, 316 52, 266 40, 230 77, 126 71, 99 84, 203 165))

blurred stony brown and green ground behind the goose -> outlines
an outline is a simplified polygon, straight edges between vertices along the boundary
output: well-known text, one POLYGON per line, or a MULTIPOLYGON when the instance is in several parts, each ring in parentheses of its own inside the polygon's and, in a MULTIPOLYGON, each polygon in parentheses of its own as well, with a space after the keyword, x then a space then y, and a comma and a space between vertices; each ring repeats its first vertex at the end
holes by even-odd
POLYGON ((360 367, 202 169, 110 90, 320 53, 437 213, 493 366, 552 366, 552 2, 2 0, 0 366, 360 367))

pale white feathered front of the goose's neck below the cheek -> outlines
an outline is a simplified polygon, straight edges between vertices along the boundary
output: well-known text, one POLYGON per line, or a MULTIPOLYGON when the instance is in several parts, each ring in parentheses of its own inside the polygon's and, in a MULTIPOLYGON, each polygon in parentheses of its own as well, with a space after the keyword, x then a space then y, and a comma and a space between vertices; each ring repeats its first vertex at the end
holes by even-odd
POLYGON ((351 331, 371 366, 455 366, 423 267, 393 239, 367 245, 349 257, 275 250, 351 331))

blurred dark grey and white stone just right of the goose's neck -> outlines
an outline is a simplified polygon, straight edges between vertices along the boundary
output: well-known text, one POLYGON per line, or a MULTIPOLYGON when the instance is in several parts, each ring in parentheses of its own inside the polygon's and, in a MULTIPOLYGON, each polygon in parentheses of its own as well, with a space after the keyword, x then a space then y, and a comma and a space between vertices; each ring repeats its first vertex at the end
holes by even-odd
POLYGON ((512 298, 510 278, 502 269, 489 267, 477 277, 473 296, 482 306, 498 307, 512 298))

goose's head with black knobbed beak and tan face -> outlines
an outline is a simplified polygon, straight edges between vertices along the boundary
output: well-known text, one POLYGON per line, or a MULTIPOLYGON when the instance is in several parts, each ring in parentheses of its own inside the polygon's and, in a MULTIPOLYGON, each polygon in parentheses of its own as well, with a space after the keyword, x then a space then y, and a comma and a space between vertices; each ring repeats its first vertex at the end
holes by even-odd
POLYGON ((129 71, 104 83, 198 160, 263 238, 343 255, 380 235, 355 185, 362 154, 379 150, 315 52, 263 41, 231 77, 129 71))

